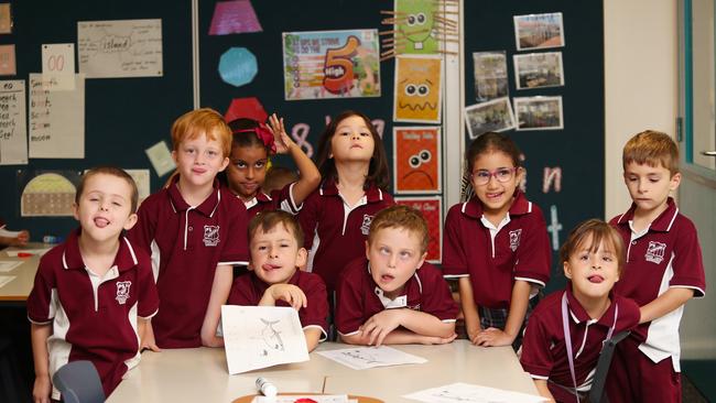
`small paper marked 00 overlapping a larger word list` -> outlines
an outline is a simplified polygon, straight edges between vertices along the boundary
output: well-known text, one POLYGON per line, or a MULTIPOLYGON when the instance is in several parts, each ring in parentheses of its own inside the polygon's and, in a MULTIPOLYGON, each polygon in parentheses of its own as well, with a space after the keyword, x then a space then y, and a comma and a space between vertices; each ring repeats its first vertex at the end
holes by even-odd
POLYGON ((42 74, 44 89, 67 91, 75 89, 75 44, 55 43, 42 45, 42 74))

